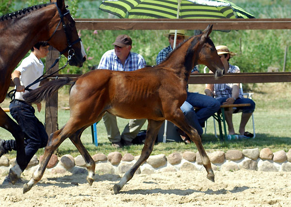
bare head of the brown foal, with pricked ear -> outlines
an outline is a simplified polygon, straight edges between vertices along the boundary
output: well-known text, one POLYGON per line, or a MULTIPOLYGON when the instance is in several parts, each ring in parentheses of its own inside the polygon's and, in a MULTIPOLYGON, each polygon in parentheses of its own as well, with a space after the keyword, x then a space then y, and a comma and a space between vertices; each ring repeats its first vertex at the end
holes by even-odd
POLYGON ((201 34, 200 44, 202 44, 202 48, 199 52, 198 64, 206 65, 214 73, 214 77, 219 78, 223 76, 225 69, 209 37, 212 26, 208 25, 201 34))

